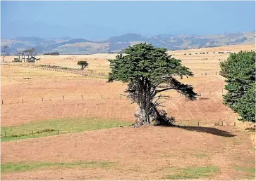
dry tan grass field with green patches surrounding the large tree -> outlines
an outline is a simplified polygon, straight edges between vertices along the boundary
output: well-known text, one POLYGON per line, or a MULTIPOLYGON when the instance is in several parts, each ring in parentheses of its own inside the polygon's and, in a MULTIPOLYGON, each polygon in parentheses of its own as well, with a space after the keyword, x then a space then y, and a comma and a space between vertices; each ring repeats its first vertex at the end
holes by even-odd
POLYGON ((201 95, 165 93, 163 109, 179 128, 128 127, 136 105, 121 95, 126 84, 90 77, 107 75, 116 54, 38 55, 26 64, 79 68, 86 60, 89 76, 1 65, 1 179, 255 180, 255 135, 222 104, 219 62, 240 50, 255 46, 169 51, 195 74, 181 81, 201 95))

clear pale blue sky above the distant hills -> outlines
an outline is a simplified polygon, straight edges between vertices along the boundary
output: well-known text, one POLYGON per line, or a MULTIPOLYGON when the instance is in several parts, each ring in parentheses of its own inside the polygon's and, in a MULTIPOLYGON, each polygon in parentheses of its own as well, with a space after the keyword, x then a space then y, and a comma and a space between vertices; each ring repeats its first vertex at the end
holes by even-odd
POLYGON ((2 37, 106 39, 125 33, 205 35, 254 30, 255 1, 1 1, 2 37))

